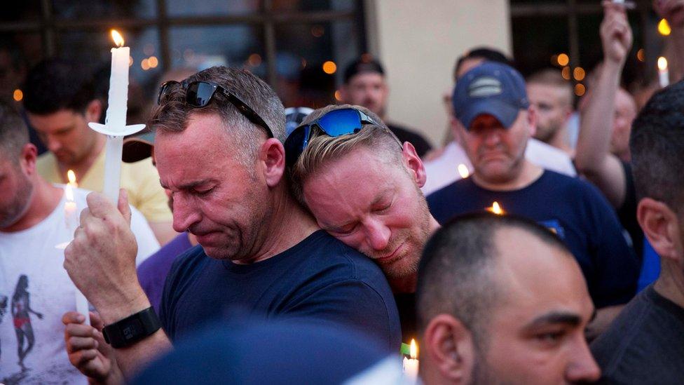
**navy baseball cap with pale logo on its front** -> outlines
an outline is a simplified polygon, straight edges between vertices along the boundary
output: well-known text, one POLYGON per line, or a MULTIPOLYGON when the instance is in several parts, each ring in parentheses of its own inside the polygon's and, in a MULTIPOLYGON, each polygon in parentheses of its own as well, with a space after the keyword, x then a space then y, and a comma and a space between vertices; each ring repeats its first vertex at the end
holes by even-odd
POLYGON ((492 115, 510 128, 518 112, 530 106, 523 76, 498 62, 484 62, 461 76, 451 100, 456 119, 466 129, 481 114, 492 115))

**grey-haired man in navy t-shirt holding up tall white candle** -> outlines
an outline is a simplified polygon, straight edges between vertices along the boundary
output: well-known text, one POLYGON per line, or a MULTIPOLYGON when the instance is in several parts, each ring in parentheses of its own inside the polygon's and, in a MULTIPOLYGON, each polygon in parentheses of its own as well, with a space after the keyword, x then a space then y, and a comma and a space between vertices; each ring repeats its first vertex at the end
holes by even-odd
POLYGON ((64 266, 100 312, 116 365, 98 366, 107 357, 95 349, 93 328, 69 313, 72 362, 100 380, 129 377, 235 307, 346 325, 396 351, 399 316, 382 271, 321 231, 289 195, 285 109, 275 92, 245 70, 212 67, 165 83, 158 100, 150 125, 160 182, 172 191, 175 229, 191 231, 202 247, 172 267, 159 320, 136 278, 125 195, 117 210, 91 194, 64 266), (131 333, 130 322, 144 327, 131 333))

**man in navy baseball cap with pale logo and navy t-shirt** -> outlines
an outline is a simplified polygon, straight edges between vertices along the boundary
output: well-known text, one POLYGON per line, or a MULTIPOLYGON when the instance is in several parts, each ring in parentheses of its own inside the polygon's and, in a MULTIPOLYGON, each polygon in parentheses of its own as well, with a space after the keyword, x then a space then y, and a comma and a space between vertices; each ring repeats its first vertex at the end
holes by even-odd
POLYGON ((512 67, 486 62, 471 69, 456 84, 453 107, 452 124, 474 170, 427 196, 432 215, 444 223, 464 212, 499 212, 498 206, 556 233, 582 267, 598 309, 588 332, 597 335, 634 296, 638 277, 615 212, 591 184, 526 160, 536 116, 512 67))

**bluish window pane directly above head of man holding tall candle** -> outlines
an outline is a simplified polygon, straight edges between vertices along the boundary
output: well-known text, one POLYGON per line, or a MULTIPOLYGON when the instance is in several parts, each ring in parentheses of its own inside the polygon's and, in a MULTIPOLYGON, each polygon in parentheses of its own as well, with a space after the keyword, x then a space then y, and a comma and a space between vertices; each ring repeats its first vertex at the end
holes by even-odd
POLYGON ((246 67, 266 77, 266 55, 258 27, 173 27, 169 35, 172 67, 246 67))

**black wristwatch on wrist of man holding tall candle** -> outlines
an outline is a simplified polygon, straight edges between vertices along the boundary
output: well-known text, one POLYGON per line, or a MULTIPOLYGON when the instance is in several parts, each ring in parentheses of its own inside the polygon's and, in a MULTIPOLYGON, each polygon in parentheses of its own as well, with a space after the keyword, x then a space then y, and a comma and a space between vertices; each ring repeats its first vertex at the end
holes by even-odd
POLYGON ((116 321, 102 328, 104 341, 112 347, 125 348, 152 335, 159 330, 161 323, 152 306, 132 316, 116 321))

